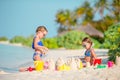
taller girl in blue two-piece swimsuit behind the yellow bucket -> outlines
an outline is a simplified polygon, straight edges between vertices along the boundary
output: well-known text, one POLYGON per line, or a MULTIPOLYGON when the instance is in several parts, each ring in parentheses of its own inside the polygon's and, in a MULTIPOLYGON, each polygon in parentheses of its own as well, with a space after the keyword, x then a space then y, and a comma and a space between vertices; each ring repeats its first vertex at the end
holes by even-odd
POLYGON ((42 42, 40 41, 42 38, 45 37, 47 32, 48 31, 44 26, 39 26, 36 29, 36 35, 35 35, 35 37, 33 39, 33 43, 32 43, 32 48, 35 50, 35 53, 33 54, 34 61, 41 60, 42 55, 45 54, 46 51, 48 50, 48 48, 43 46, 42 42))

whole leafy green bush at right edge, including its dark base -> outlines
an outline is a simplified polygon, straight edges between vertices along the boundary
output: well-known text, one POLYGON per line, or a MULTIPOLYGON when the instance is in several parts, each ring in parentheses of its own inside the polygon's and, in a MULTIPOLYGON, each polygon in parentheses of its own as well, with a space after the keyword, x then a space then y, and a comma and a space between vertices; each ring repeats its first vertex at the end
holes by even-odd
POLYGON ((115 61, 116 56, 120 56, 120 23, 110 26, 105 32, 103 46, 109 49, 109 60, 115 61))

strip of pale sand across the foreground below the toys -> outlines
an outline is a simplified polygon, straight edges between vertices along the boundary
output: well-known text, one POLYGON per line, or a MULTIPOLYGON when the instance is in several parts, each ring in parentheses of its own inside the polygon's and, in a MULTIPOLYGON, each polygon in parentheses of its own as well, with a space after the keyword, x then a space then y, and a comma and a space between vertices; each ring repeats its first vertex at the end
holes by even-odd
POLYGON ((40 71, 1 74, 0 80, 120 80, 120 68, 84 68, 77 71, 40 71))

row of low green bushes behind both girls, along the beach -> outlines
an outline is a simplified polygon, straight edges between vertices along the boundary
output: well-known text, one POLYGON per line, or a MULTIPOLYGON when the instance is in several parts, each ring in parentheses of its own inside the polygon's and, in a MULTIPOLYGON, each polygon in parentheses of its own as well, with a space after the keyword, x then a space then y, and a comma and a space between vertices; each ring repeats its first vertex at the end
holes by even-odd
MULTIPOLYGON (((44 46, 48 47, 49 49, 56 49, 64 47, 66 49, 79 49, 82 48, 82 39, 84 37, 89 37, 84 32, 79 31, 69 31, 66 34, 58 37, 53 38, 44 38, 42 42, 44 46)), ((22 43, 22 45, 31 47, 33 41, 33 36, 29 36, 27 38, 23 36, 15 36, 10 40, 11 43, 22 43)), ((99 48, 100 43, 92 39, 95 48, 99 48)))

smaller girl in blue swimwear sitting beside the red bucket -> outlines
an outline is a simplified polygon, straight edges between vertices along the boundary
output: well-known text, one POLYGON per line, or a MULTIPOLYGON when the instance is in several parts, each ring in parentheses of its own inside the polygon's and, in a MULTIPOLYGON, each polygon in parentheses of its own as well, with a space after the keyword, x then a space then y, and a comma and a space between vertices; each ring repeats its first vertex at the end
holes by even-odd
POLYGON ((92 41, 91 41, 91 39, 88 38, 88 37, 85 37, 82 40, 82 46, 84 48, 86 48, 85 58, 84 58, 86 63, 90 63, 91 65, 93 65, 93 62, 96 59, 96 54, 95 54, 94 49, 92 48, 92 41))

